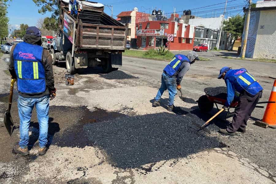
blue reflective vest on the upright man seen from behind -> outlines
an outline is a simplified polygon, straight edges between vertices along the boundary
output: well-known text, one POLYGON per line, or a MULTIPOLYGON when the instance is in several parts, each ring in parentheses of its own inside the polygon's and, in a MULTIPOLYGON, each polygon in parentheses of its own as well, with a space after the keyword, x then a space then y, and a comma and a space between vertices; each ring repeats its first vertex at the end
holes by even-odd
POLYGON ((42 57, 43 47, 26 42, 16 44, 13 60, 19 92, 26 94, 45 92, 46 78, 42 57))

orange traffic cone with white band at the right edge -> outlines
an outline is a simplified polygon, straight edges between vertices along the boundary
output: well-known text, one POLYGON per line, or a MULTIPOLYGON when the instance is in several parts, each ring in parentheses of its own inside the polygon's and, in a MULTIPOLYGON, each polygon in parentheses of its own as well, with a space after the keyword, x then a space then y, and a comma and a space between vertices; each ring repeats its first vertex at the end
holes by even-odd
MULTIPOLYGON (((276 80, 274 81, 268 101, 276 102, 276 80)), ((268 103, 262 121, 258 120, 255 124, 263 128, 276 128, 276 103, 268 103)))

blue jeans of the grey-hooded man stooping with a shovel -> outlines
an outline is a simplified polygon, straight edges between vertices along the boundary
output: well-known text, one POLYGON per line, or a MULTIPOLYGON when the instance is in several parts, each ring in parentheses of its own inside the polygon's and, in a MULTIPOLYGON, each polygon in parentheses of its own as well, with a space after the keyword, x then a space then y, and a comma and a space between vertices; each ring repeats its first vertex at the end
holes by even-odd
POLYGON ((169 103, 168 105, 174 105, 174 96, 177 94, 176 91, 176 78, 170 77, 163 72, 161 77, 161 87, 159 88, 155 101, 159 102, 162 94, 165 90, 169 91, 169 103))

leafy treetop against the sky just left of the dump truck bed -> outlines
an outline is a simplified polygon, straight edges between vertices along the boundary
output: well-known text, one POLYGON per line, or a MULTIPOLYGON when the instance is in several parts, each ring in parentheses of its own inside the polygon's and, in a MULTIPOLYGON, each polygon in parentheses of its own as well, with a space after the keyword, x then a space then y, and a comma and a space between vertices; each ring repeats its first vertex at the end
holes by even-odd
POLYGON ((33 0, 36 6, 40 7, 38 13, 45 14, 52 12, 52 17, 57 19, 59 16, 59 0, 33 0))

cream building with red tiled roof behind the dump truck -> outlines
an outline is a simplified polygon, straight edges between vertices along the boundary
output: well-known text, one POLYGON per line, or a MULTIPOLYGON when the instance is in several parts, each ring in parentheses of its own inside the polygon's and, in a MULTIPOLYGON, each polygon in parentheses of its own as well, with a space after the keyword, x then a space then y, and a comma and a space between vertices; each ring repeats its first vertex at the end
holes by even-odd
MULTIPOLYGON (((148 19, 148 13, 138 12, 138 8, 133 8, 132 11, 124 11, 117 15, 117 20, 123 24, 128 25, 128 36, 127 40, 136 39, 136 24, 141 19, 148 19)), ((138 29, 138 28, 137 28, 138 29)))

